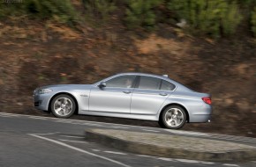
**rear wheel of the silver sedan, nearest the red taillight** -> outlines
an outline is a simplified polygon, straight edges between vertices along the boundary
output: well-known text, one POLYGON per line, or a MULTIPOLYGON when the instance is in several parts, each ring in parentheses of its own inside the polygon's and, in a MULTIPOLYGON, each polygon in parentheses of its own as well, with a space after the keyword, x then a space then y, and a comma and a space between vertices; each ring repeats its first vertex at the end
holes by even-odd
POLYGON ((186 113, 184 109, 178 105, 171 105, 162 112, 159 125, 170 129, 178 129, 184 126, 185 121, 186 113))

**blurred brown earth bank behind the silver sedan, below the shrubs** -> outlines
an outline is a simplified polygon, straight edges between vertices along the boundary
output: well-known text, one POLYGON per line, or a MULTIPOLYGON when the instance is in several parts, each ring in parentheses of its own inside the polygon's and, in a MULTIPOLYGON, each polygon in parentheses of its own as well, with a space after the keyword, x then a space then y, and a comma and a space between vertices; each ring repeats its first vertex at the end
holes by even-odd
MULTIPOLYGON (((91 84, 128 71, 168 74, 212 95, 212 122, 186 124, 184 130, 256 137, 255 40, 195 38, 167 25, 134 33, 111 19, 115 24, 79 30, 26 18, 1 22, 0 112, 44 115, 32 101, 41 85, 91 84)), ((72 118, 158 127, 154 121, 72 118)))

